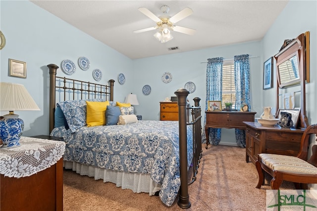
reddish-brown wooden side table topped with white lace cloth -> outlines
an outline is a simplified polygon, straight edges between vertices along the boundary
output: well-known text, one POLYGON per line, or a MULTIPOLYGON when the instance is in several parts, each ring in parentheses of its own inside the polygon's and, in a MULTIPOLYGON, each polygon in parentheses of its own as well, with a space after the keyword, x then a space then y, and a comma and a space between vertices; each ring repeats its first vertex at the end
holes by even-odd
MULTIPOLYGON (((22 136, 20 143, 27 144, 26 141, 29 141, 28 144, 32 144, 34 141, 43 142, 41 147, 47 150, 53 149, 53 144, 48 144, 47 140, 22 136)), ((32 146, 31 144, 29 146, 32 146)), ((17 149, 13 150, 16 151, 17 149)), ((34 148, 34 150, 38 149, 34 148)), ((12 152, 9 152, 9 149, 3 149, 0 155, 6 155, 6 153, 8 153, 8 157, 12 156, 12 152)), ((23 156, 20 158, 23 159, 23 156)), ((7 167, 5 163, 4 166, 7 167)), ((8 175, 5 176, 5 173, 1 173, 0 189, 1 211, 62 211, 63 158, 60 158, 51 167, 29 176, 20 178, 15 176, 9 177, 8 175)))

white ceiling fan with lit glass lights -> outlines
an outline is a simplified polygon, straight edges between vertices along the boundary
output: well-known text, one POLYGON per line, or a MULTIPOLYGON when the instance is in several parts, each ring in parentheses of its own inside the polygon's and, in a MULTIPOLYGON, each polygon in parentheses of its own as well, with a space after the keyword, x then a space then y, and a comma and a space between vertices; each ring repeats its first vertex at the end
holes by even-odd
POLYGON ((189 15, 193 14, 193 10, 189 7, 186 7, 179 11, 174 16, 170 17, 167 15, 169 11, 169 7, 166 5, 163 5, 160 7, 161 12, 163 13, 162 16, 156 16, 153 14, 149 9, 145 7, 140 7, 138 9, 140 12, 151 18, 157 23, 157 26, 146 28, 146 29, 140 29, 133 31, 134 33, 141 33, 141 32, 147 32, 151 30, 159 29, 157 33, 154 34, 154 37, 158 39, 161 43, 168 42, 173 39, 173 36, 170 34, 171 31, 184 33, 186 35, 193 35, 196 30, 190 29, 182 26, 174 26, 173 24, 188 17, 189 15))

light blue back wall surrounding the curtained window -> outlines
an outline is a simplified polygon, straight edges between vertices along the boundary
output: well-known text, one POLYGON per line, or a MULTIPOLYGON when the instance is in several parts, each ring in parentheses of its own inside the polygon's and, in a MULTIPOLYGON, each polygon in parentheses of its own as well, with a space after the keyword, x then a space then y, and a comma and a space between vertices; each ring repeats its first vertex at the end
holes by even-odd
MULTIPOLYGON (((240 54, 256 56, 250 58, 251 90, 253 93, 262 93, 262 86, 259 86, 262 74, 260 49, 260 42, 248 42, 134 60, 135 85, 133 90, 138 95, 140 103, 139 106, 136 106, 138 114, 142 115, 145 120, 159 120, 159 102, 166 97, 174 96, 174 92, 178 88, 183 88, 189 81, 196 84, 196 90, 189 94, 188 100, 191 105, 194 105, 192 99, 200 97, 202 111, 204 112, 206 104, 206 62, 208 58, 212 57, 222 56, 224 59, 232 59, 235 55, 240 54), (173 77, 168 84, 161 80, 164 72, 171 73, 173 77), (145 84, 149 84, 152 88, 150 95, 142 93, 142 87, 145 84)), ((261 94, 253 94, 253 110, 258 113, 262 112, 261 105, 261 94)), ((222 129, 220 143, 236 145, 234 129, 222 129)))

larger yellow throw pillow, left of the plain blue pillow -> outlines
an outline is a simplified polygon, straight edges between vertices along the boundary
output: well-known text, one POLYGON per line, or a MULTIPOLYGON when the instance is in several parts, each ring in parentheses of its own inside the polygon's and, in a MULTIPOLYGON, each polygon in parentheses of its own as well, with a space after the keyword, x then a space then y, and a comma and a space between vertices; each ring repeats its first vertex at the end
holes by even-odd
POLYGON ((106 109, 109 101, 87 103, 86 124, 87 127, 105 126, 106 125, 106 109))

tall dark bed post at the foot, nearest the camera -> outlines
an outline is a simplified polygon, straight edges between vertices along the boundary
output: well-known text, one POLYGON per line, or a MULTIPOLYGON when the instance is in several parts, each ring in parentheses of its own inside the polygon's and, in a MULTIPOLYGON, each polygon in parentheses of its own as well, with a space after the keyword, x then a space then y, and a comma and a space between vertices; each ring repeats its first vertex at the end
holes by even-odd
POLYGON ((177 89, 174 92, 177 96, 178 104, 178 124, 179 124, 179 171, 180 171, 180 189, 178 197, 178 206, 182 209, 190 208, 187 185, 187 96, 189 91, 185 88, 177 89))

